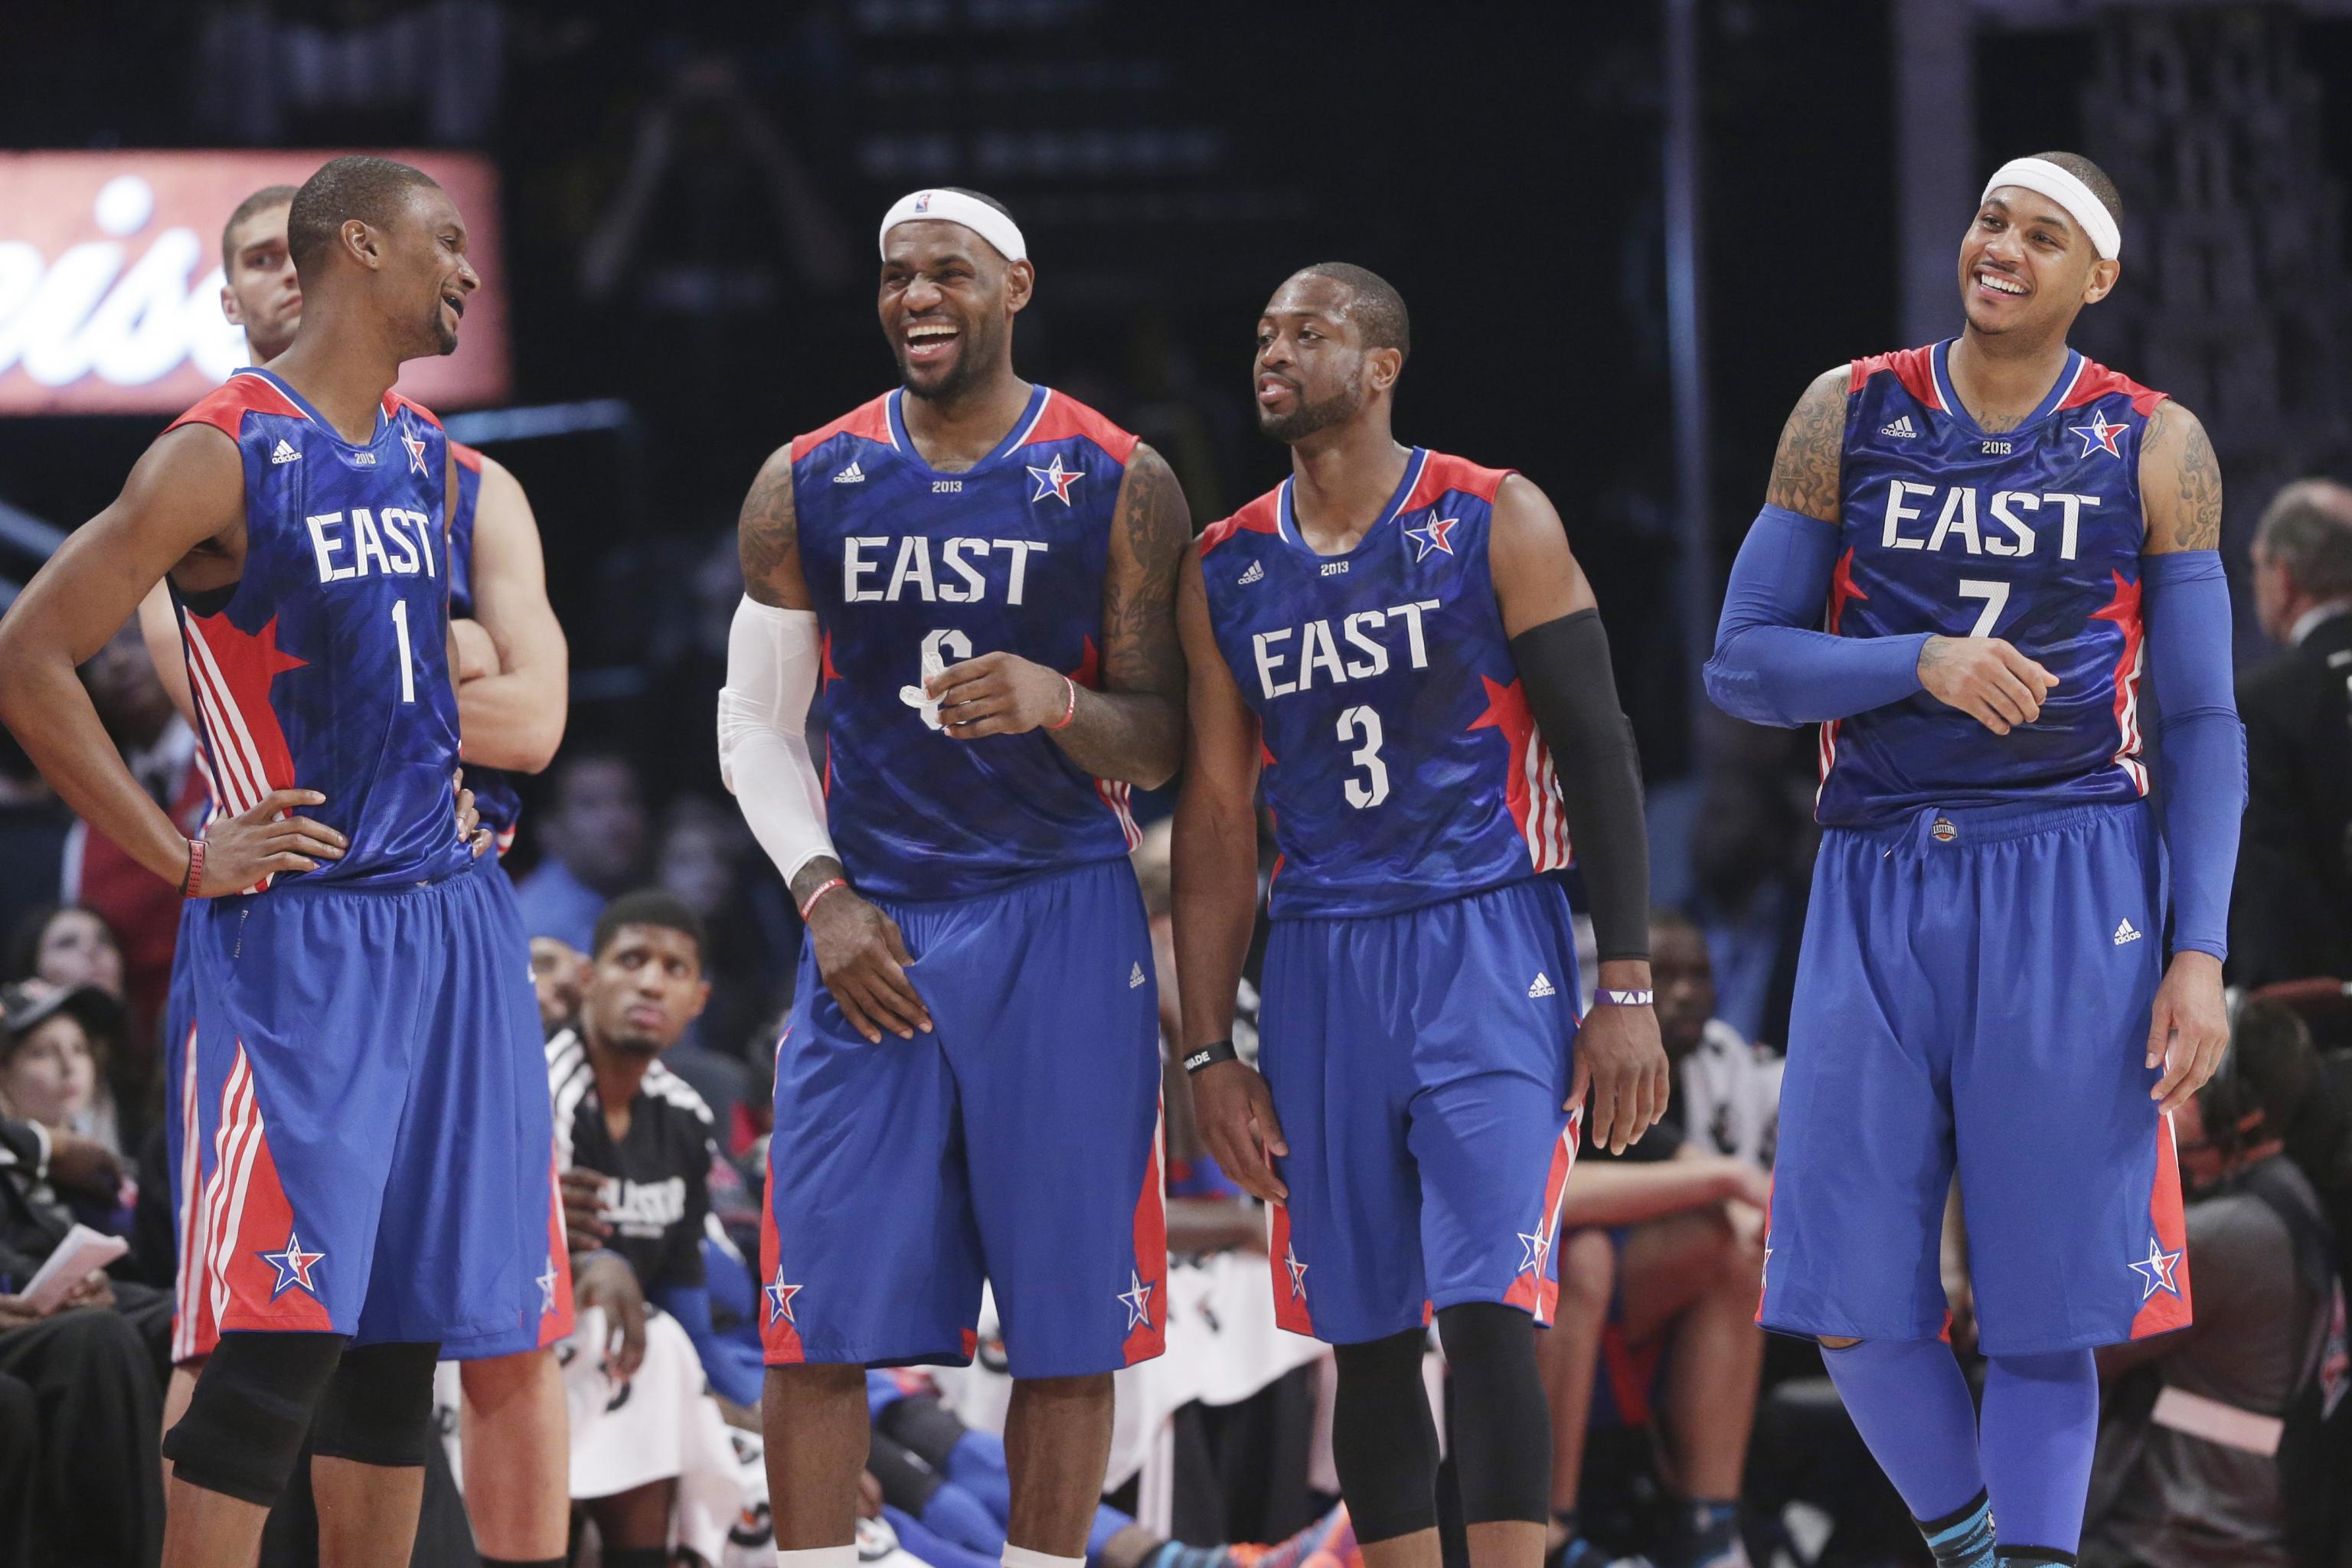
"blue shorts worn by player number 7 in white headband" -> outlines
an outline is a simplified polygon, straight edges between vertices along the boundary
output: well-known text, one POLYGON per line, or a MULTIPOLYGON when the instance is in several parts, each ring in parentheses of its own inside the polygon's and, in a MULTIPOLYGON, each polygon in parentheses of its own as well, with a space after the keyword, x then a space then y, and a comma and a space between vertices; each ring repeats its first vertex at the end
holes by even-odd
POLYGON ((1943 1333, 1957 1171, 1987 1354, 2187 1326, 2180 1173, 2145 1065, 2161 882, 2140 804, 1926 806, 1823 835, 1759 1324, 1943 1333))

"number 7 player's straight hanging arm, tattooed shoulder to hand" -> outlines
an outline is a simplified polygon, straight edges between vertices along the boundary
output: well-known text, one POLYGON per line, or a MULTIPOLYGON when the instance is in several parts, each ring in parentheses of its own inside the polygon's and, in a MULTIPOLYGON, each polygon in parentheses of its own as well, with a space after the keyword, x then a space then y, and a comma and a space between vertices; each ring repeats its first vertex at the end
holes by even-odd
POLYGON ((2157 788, 2171 860, 2173 959, 2147 1018, 2152 1095, 2180 1110, 2220 1065, 2230 1023, 2230 882, 2246 809, 2246 729, 2230 675, 2230 581, 2220 567, 2220 463, 2204 425, 2159 402, 2140 437, 2140 614, 2157 698, 2157 788))

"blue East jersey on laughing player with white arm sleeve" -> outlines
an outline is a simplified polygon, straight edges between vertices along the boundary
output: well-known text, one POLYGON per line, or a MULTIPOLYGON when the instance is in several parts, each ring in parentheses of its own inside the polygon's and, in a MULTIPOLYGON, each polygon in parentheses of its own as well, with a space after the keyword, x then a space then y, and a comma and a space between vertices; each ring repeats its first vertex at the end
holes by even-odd
POLYGON ((955 741, 922 682, 1004 651, 1098 684, 1110 524, 1136 437, 1040 386, 995 451, 943 473, 915 451, 898 400, 793 440, 842 865, 870 893, 969 898, 1124 856, 1124 783, 1087 776, 1042 731, 955 741))

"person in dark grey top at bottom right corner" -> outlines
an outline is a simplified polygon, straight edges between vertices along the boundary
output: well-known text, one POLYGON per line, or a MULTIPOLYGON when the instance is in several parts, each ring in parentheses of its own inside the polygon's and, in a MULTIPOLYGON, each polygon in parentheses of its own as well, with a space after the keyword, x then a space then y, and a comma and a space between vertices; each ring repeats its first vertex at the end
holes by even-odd
MULTIPOLYGON (((2107 1415, 2084 1568, 2293 1568, 2310 1561, 2298 1533, 2338 1561, 2340 1469, 2291 1472, 2312 1436, 2298 1396, 2345 1378, 2336 1239, 2284 1140, 2321 1093, 2319 1060, 2303 1020, 2270 1001, 2239 1009, 2230 1056, 2173 1117, 2187 1258, 2150 1248, 2131 1265, 2150 1295, 2185 1295, 2194 1269, 2197 1321, 2098 1352, 2107 1415)), ((2324 1180, 2338 1180, 2336 1157, 2324 1180)))

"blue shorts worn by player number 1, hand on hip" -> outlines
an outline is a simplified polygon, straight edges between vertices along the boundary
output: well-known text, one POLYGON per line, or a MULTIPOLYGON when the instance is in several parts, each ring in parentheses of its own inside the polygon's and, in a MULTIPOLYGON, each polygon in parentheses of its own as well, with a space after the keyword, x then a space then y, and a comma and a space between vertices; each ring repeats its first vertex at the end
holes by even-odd
POLYGON ((489 858, 191 900, 172 1354, 238 1331, 553 1345, 572 1288, 529 943, 489 858))

